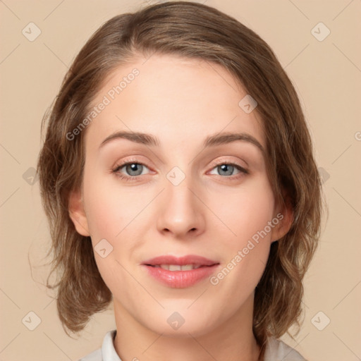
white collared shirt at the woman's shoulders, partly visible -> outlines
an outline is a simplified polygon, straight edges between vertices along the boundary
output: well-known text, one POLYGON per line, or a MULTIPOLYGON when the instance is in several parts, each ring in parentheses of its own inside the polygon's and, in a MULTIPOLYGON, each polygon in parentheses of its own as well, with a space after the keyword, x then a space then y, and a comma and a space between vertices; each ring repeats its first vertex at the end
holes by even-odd
MULTIPOLYGON (((114 348, 114 337, 116 330, 109 331, 104 336, 102 348, 82 357, 79 361, 121 361, 114 348)), ((268 339, 267 348, 264 354, 264 361, 307 361, 295 349, 286 345, 283 341, 274 337, 268 339)))

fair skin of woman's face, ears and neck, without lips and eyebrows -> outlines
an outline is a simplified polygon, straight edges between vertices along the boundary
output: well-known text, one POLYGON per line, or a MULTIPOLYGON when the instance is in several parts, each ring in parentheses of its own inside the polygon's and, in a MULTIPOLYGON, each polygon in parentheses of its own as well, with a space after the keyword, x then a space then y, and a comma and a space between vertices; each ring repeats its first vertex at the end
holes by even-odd
MULTIPOLYGON (((69 207, 80 234, 90 235, 94 246, 105 238, 113 247, 107 257, 97 252, 94 257, 114 296, 116 352, 123 361, 170 355, 174 361, 257 360, 255 287, 271 242, 290 227, 291 210, 276 204, 255 145, 202 146, 207 135, 227 131, 248 133, 265 148, 257 109, 250 114, 240 109, 247 92, 221 66, 158 54, 117 68, 93 103, 133 68, 140 74, 87 126, 84 181, 69 207), (99 149, 116 130, 151 133, 160 146, 117 139, 99 149), (129 159, 144 164, 136 181, 111 172, 129 159), (222 171, 224 161, 249 174, 222 171), (185 175, 179 185, 166 178, 174 166, 185 175), (204 279, 189 288, 169 288, 140 267, 159 255, 202 255, 223 269, 279 212, 283 220, 216 286, 204 279), (175 311, 185 320, 176 330, 167 322, 175 311)), ((126 166, 118 173, 135 177, 126 166)))

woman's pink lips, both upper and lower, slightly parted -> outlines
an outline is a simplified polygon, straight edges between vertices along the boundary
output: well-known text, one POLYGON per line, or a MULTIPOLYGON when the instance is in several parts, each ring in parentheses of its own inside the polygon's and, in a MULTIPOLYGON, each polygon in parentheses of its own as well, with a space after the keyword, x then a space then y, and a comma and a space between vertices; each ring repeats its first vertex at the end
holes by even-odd
POLYGON ((150 276, 168 287, 187 288, 214 274, 214 271, 219 267, 219 262, 197 255, 187 255, 184 257, 164 255, 143 262, 142 267, 146 269, 150 276), (186 271, 169 271, 161 267, 154 267, 159 264, 178 264, 180 266, 200 264, 202 267, 186 271))

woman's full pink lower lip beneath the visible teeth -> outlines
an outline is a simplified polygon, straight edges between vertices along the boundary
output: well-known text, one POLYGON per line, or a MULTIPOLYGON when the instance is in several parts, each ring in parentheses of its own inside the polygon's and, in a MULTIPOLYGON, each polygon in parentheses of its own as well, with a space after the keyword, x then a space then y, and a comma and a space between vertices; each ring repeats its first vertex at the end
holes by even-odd
POLYGON ((145 264, 143 264, 143 266, 147 268, 147 271, 151 276, 166 286, 173 288, 186 288, 211 276, 219 264, 190 269, 188 271, 169 271, 169 269, 147 266, 145 264))

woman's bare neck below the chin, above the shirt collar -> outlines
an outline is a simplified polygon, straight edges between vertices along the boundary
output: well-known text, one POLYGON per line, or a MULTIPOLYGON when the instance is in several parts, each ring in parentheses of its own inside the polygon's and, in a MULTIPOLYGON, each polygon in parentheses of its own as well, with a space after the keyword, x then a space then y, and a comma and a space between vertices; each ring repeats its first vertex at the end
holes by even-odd
MULTIPOLYGON (((253 296, 253 295, 252 295, 253 296)), ((122 361, 258 361, 259 346, 252 332, 253 297, 215 329, 195 335, 167 336, 145 327, 114 300, 114 347, 122 361)))

